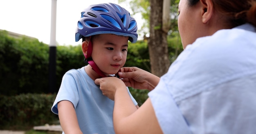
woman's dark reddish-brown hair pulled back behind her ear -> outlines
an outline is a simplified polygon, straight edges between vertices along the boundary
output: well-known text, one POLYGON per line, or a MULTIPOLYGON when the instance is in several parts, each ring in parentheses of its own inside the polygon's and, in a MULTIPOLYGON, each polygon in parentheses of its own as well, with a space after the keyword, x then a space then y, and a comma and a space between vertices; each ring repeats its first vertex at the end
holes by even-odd
MULTIPOLYGON (((188 0, 194 6, 199 0, 188 0)), ((213 8, 226 16, 233 27, 250 23, 256 26, 256 0, 212 0, 213 8)))

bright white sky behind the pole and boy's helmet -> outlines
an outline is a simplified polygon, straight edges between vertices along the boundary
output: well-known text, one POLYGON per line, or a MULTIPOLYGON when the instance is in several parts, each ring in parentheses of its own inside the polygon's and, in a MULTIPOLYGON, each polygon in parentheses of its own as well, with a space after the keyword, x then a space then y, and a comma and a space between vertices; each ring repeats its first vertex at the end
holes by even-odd
MULTIPOLYGON (((57 0, 56 42, 58 45, 78 45, 76 24, 81 11, 92 4, 116 3, 117 0, 57 0)), ((52 0, 0 0, 0 29, 37 38, 50 43, 52 0)), ((119 4, 131 13, 126 3, 119 4)), ((140 27, 139 15, 133 16, 140 27)), ((142 25, 142 24, 141 24, 142 25)))

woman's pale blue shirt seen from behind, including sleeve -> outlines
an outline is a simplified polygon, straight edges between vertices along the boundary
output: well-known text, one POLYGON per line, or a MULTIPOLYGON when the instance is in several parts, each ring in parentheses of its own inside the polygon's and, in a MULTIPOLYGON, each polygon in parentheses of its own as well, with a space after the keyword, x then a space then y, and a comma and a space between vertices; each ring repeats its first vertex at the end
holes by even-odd
POLYGON ((256 28, 197 39, 148 95, 164 134, 256 134, 256 28))

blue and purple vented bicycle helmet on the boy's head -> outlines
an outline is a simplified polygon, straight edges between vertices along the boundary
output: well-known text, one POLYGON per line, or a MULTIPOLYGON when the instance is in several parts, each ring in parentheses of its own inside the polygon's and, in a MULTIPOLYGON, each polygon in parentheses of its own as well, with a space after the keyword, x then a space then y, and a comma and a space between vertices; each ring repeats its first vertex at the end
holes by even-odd
POLYGON ((83 36, 99 34, 126 36, 135 43, 138 37, 137 23, 126 9, 117 4, 94 4, 81 12, 76 28, 76 41, 83 36))

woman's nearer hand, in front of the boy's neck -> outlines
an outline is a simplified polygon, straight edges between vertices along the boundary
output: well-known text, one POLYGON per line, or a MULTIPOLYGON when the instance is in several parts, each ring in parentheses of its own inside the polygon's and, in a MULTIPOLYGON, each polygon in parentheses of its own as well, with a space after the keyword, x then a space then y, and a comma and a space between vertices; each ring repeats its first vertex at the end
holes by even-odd
POLYGON ((105 77, 94 80, 95 84, 100 85, 102 94, 109 99, 115 100, 115 93, 117 90, 126 91, 126 85, 117 77, 105 77))

